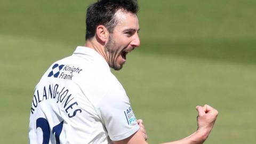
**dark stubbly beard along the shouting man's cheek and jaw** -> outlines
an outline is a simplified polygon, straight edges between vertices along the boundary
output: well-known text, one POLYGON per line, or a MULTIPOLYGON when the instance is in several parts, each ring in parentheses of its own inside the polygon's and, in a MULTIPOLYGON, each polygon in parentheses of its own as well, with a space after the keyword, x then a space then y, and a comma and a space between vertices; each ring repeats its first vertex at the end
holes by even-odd
POLYGON ((115 70, 120 70, 123 68, 123 65, 118 65, 116 59, 118 57, 119 48, 116 46, 113 36, 109 35, 109 41, 105 45, 105 53, 108 55, 108 65, 110 68, 115 70))

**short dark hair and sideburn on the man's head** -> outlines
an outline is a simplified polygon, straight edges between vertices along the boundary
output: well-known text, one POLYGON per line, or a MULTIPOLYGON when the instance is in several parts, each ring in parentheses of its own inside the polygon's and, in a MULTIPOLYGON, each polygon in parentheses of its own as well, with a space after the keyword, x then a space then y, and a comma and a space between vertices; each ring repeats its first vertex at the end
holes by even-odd
POLYGON ((118 10, 137 14, 138 9, 137 0, 101 0, 91 4, 86 14, 85 39, 92 38, 99 25, 105 26, 112 33, 117 25, 114 15, 118 10))

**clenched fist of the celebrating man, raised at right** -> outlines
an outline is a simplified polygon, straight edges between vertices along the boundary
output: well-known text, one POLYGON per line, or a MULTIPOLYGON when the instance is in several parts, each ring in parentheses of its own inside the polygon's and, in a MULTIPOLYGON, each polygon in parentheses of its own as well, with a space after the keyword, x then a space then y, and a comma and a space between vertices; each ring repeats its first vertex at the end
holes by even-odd
POLYGON ((206 137, 210 134, 217 119, 218 111, 209 105, 197 106, 197 131, 206 132, 206 137))

